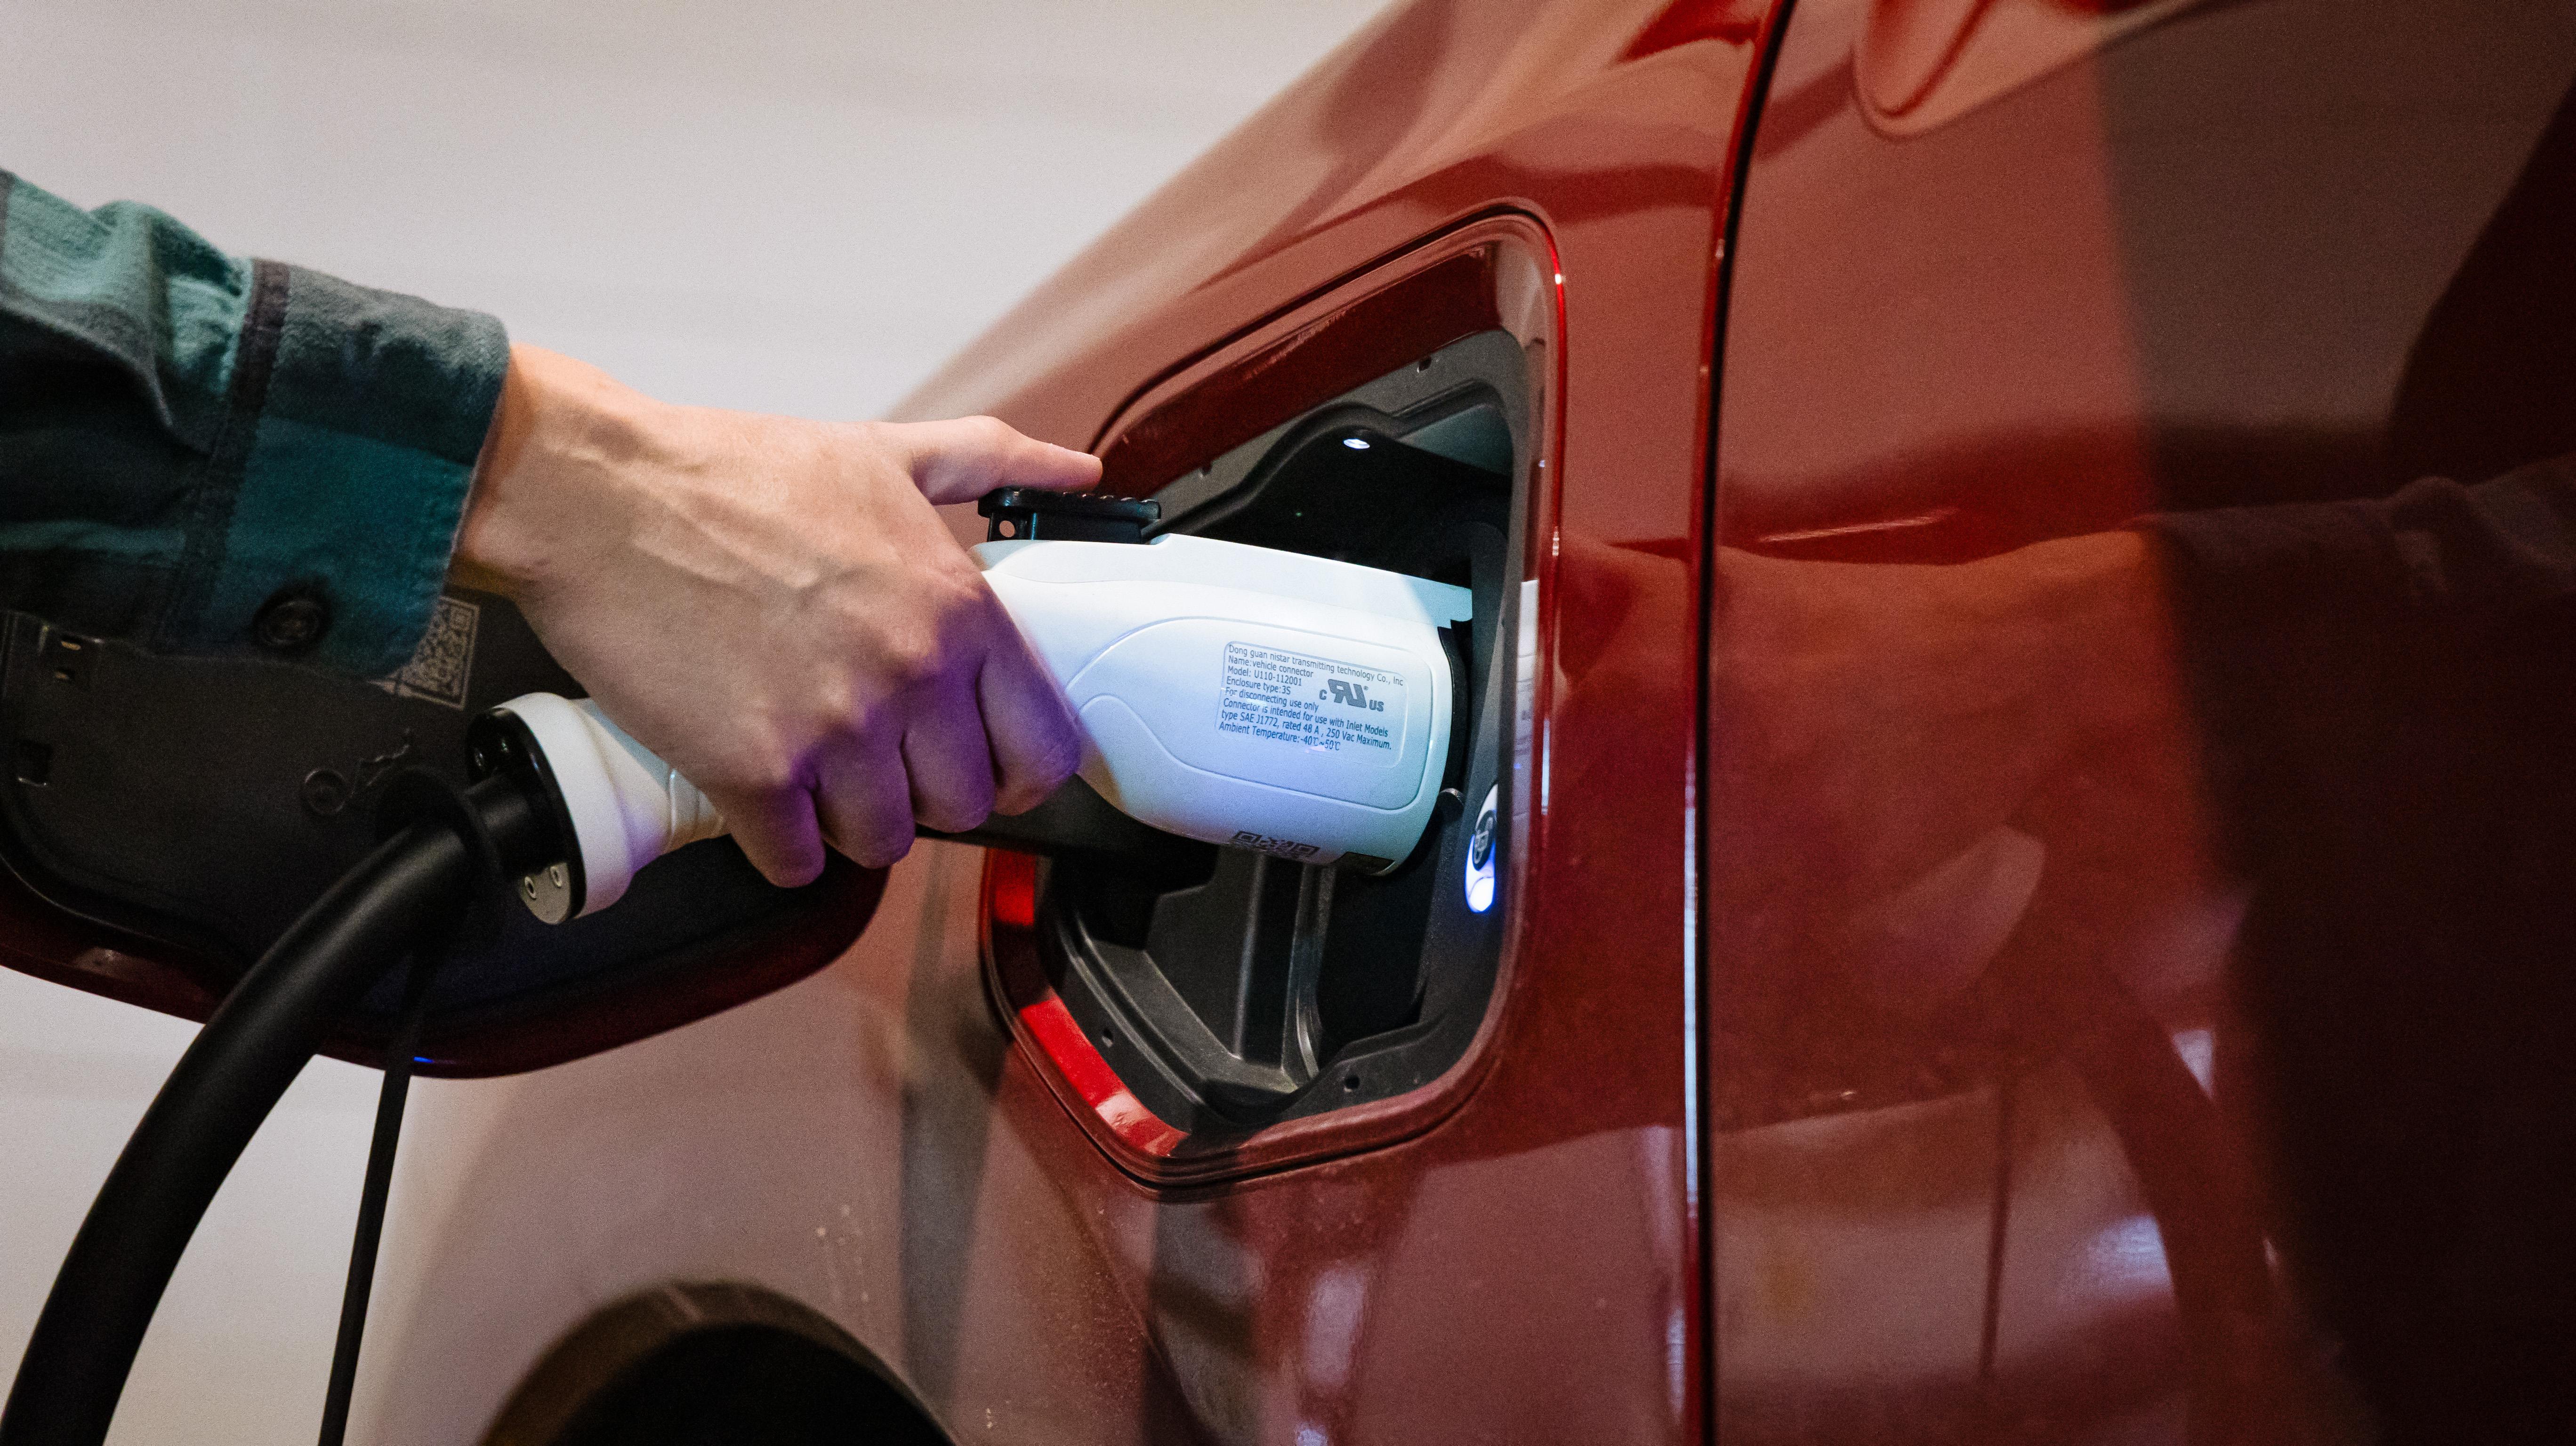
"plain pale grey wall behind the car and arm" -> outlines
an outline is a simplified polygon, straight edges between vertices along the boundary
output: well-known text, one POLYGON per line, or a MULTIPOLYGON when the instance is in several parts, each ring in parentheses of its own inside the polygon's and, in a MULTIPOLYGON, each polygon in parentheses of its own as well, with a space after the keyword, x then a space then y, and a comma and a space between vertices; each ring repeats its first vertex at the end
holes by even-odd
MULTIPOLYGON (((866 418, 1376 8, 0 0, 0 168, 672 402, 866 418)), ((191 1034, 0 972, 0 1374, 191 1034)), ((118 1443, 309 1438, 374 1083, 319 1059, 268 1121, 118 1443)))

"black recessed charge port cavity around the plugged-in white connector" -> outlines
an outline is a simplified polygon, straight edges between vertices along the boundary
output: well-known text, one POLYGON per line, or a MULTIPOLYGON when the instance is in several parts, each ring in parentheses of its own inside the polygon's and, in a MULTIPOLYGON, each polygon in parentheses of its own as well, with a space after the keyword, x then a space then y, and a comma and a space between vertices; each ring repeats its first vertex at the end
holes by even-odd
MULTIPOLYGON (((1476 799, 1510 766, 1520 345, 1481 333, 1226 451, 1149 528, 1334 557, 1473 593, 1445 631, 1453 737, 1419 845, 1386 874, 1211 851, 1046 869, 1038 938, 1066 1008, 1164 1121, 1244 1134, 1404 1093, 1463 1054, 1504 910, 1471 907, 1476 799)), ((1507 840, 1497 838, 1499 853, 1507 840)), ((1486 879, 1497 876, 1489 866, 1486 879)), ((1492 889, 1492 884, 1489 884, 1492 889)))

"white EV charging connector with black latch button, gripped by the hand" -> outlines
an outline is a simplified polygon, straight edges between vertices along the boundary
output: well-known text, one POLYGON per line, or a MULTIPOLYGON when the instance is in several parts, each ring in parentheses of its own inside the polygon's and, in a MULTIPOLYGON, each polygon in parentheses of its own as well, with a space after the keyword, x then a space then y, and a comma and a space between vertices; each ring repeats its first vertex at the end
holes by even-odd
MULTIPOLYGON (((1466 588, 1203 536, 1146 541, 1154 505, 1123 497, 1005 490, 981 510, 994 523, 976 567, 1082 722, 1082 786, 1162 835, 1293 863, 1386 874, 1414 851, 1450 766, 1461 673, 1445 634, 1473 611, 1466 588)), ((549 796, 572 840, 518 879, 546 923, 608 907, 662 853, 726 830, 590 701, 510 699, 469 747, 477 778, 549 796)), ((1077 807, 1023 820, 966 838, 1100 851, 1077 807)))

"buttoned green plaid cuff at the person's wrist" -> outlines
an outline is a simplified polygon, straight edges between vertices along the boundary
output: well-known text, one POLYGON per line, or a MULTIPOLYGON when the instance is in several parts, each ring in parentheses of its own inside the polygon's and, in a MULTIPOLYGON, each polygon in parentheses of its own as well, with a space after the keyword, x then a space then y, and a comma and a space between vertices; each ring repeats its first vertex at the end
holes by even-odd
POLYGON ((399 670, 438 606, 507 371, 495 317, 252 263, 160 647, 399 670))

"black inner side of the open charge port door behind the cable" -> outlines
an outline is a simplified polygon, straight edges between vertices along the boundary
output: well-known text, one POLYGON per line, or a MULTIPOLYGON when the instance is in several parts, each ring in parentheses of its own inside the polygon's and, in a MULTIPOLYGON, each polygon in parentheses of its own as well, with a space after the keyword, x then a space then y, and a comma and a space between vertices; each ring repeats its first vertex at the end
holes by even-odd
MULTIPOLYGON (((471 717, 531 691, 582 696, 526 619, 482 593, 440 598, 412 665, 374 683, 291 662, 157 657, 5 613, 0 863, 44 907, 103 941, 185 959, 196 987, 222 995, 374 848, 376 807, 402 771, 464 786, 471 717)), ((775 889, 732 840, 708 840, 647 866, 616 910, 567 925, 495 902, 446 941, 422 1070, 544 1065, 750 998, 760 990, 688 979, 786 936, 819 964, 837 954, 832 938, 858 936, 878 887, 835 856, 824 879, 775 889), (623 1034, 618 1008, 600 1008, 652 990, 665 1000, 626 1008, 641 1023, 623 1034), (690 1013, 680 995, 706 1008, 690 1013), (544 1016, 567 1028, 528 1028, 544 1016), (471 1041, 500 1036, 513 1041, 477 1065, 471 1041)), ((783 982, 770 974, 768 987, 783 982)), ((384 1034, 397 990, 389 972, 335 1052, 366 1057, 350 1041, 384 1034)))

